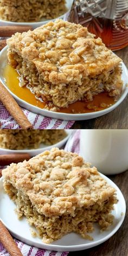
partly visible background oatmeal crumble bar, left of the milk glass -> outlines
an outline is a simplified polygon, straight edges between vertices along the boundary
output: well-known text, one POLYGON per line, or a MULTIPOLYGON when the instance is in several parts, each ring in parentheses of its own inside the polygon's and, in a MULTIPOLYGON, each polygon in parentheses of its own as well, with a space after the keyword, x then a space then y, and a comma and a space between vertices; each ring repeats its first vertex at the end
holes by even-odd
POLYGON ((53 145, 66 136, 65 130, 0 130, 0 148, 37 149, 41 143, 53 145))

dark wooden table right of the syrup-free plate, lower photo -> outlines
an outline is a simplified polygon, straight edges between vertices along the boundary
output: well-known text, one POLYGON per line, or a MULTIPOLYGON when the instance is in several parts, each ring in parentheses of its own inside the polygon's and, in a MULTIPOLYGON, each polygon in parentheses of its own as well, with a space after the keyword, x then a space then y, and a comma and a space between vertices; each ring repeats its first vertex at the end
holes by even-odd
MULTIPOLYGON (((128 171, 119 175, 108 176, 124 195, 128 206, 128 171)), ((128 213, 126 212, 123 225, 110 239, 101 245, 79 252, 70 252, 69 256, 128 256, 128 213)))

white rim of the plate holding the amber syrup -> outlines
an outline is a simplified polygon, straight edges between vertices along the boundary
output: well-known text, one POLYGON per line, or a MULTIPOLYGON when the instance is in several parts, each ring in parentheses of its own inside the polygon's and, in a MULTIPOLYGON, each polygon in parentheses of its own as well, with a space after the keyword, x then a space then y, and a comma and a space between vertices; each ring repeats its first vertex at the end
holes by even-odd
MULTIPOLYGON (((8 46, 5 46, 1 50, 1 52, 0 52, 0 61, 1 61, 1 58, 2 58, 3 54, 5 54, 7 56, 7 50, 8 50, 8 46)), ((127 70, 127 67, 125 66, 123 61, 121 62, 121 66, 122 66, 122 69, 125 73, 125 76, 128 76, 128 70, 127 70)), ((3 67, 1 69, 3 70, 3 67)), ((20 99, 16 94, 11 92, 11 90, 6 85, 5 81, 3 81, 2 79, 4 80, 3 76, 0 75, 0 81, 2 82, 4 87, 9 91, 9 93, 12 95, 12 97, 15 98, 15 100, 18 102, 18 104, 20 106, 25 105, 25 108, 27 110, 33 112, 33 113, 37 113, 38 111, 41 111, 42 113, 40 113, 40 114, 42 114, 43 116, 57 118, 57 119, 61 119, 61 120, 71 120, 71 121, 72 120, 86 120, 86 119, 91 119, 91 118, 96 118, 96 117, 103 116, 104 114, 107 114, 108 112, 111 112, 115 108, 117 108, 124 101, 124 99, 126 98, 126 96, 128 94, 128 87, 126 86, 126 84, 123 83, 123 88, 124 89, 123 89, 123 92, 120 95, 120 98, 112 106, 110 106, 108 108, 105 108, 105 110, 95 111, 95 112, 91 112, 91 113, 80 113, 80 114, 62 113, 62 112, 55 112, 55 111, 46 110, 44 108, 40 108, 40 107, 31 105, 30 103, 27 103, 27 101, 24 101, 24 100, 20 99), (30 110, 30 108, 34 108, 34 110, 30 110)))

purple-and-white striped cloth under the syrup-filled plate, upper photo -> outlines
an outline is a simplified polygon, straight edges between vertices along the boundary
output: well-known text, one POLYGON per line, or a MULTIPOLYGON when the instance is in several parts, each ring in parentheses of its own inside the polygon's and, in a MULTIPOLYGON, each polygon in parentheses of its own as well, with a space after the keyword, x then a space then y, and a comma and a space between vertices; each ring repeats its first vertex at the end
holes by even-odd
MULTIPOLYGON (((33 124, 34 129, 69 129, 74 124, 74 121, 59 120, 50 117, 43 117, 40 114, 34 114, 28 110, 22 108, 25 116, 31 124, 33 124)), ((19 129, 20 126, 16 121, 10 116, 9 112, 0 102, 0 122, 1 129, 19 129)))

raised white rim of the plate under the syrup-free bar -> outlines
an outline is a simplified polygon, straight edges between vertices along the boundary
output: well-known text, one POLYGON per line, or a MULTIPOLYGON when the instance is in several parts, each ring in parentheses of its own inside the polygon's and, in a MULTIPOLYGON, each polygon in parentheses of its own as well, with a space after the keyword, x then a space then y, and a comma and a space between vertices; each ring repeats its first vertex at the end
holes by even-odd
MULTIPOLYGON (((105 180, 107 181, 107 182, 109 182, 110 183, 110 185, 113 185, 113 187, 114 188, 116 188, 116 190, 118 191, 118 193, 120 194, 120 202, 121 202, 121 204, 123 205, 123 208, 124 208, 124 212, 123 212, 123 216, 121 217, 121 219, 119 220, 119 222, 116 224, 116 227, 114 227, 114 229, 109 233, 109 234, 107 234, 104 238, 101 238, 100 240, 98 240, 98 241, 93 241, 93 242, 90 242, 90 243, 88 243, 88 244, 81 244, 81 245, 69 245, 69 246, 63 246, 63 245, 53 245, 53 244, 44 244, 43 242, 42 242, 42 246, 44 246, 44 249, 45 249, 45 247, 47 247, 47 249, 48 249, 48 247, 49 247, 49 249, 52 249, 52 250, 54 250, 54 251, 56 251, 56 249, 55 248, 58 248, 59 250, 60 249, 62 249, 62 251, 75 251, 74 249, 76 249, 76 251, 82 251, 82 250, 84 250, 84 249, 88 249, 88 248, 92 248, 92 247, 94 247, 94 246, 97 246, 97 245, 100 245, 100 244, 102 244, 103 242, 105 242, 106 240, 108 240, 109 238, 111 238, 117 231, 118 231, 118 229, 120 228, 120 226, 122 225, 122 223, 123 223, 123 221, 124 221, 124 219, 125 219, 125 214, 126 214, 126 202, 125 202, 125 199, 124 199, 124 196, 123 196, 123 194, 121 193, 121 190, 118 188, 118 186, 113 182, 113 181, 111 181, 110 180, 110 178, 108 178, 108 177, 106 177, 104 174, 101 174, 101 172, 99 172, 99 174, 103 177, 103 178, 105 178, 105 180), (72 249, 72 250, 70 250, 70 249, 72 249)), ((1 177, 0 178, 0 183, 3 181, 3 177, 1 177)), ((108 183, 108 184, 109 184, 108 183)), ((4 221, 1 219, 1 217, 0 217, 0 220, 3 222, 3 224, 5 225, 5 227, 7 227, 7 225, 4 223, 4 221)), ((8 228, 8 227, 7 227, 8 228)), ((8 228, 8 230, 11 232, 11 233, 13 233, 14 234, 14 236, 16 235, 16 236, 18 236, 18 237, 20 237, 19 235, 17 235, 15 232, 13 232, 13 231, 11 231, 9 228, 8 228)), ((15 236, 15 237, 16 237, 15 236)), ((21 238, 18 238, 20 241, 23 241, 21 238)), ((23 238, 24 239, 24 238, 23 238)), ((30 241, 30 240, 29 240, 30 241)), ((33 243, 33 242, 30 242, 31 244, 33 243)), ((25 244, 27 244, 27 243, 25 243, 25 244)), ((39 242, 35 242, 35 244, 36 244, 36 246, 35 247, 37 247, 37 248, 41 248, 40 246, 38 247, 38 244, 39 244, 39 242)), ((32 245, 31 245, 32 246, 32 245)), ((57 250, 58 250, 57 249, 57 250)))

